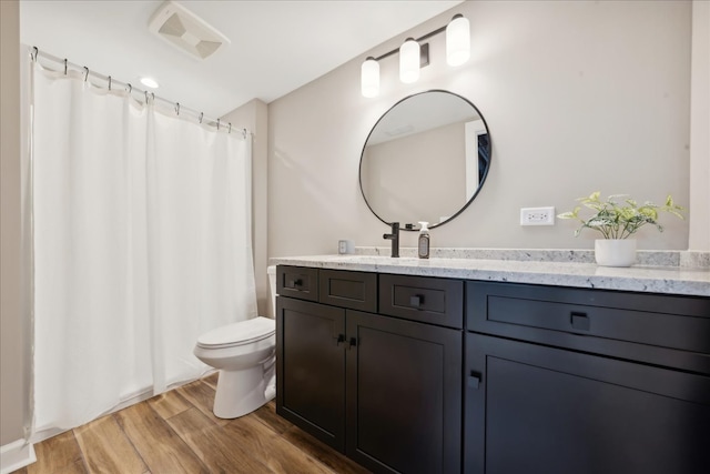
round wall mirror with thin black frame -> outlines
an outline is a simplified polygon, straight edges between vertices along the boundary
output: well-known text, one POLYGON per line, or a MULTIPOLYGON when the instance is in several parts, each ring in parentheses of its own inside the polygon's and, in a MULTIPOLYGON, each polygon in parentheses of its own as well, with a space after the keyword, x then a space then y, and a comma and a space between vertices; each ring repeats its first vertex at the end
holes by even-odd
POLYGON ((435 228, 466 209, 489 167, 490 138, 478 109, 433 90, 400 100, 375 123, 361 155, 359 188, 384 223, 435 228))

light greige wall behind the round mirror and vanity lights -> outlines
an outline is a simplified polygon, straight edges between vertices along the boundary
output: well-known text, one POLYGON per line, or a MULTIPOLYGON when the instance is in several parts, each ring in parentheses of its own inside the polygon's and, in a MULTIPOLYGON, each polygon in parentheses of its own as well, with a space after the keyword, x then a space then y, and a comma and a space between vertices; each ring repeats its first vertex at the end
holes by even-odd
MULTIPOLYGON (((689 186, 691 7, 468 1, 272 102, 270 256, 335 253, 338 239, 388 244, 382 239, 386 225, 359 193, 361 149, 389 107, 428 89, 475 103, 494 150, 478 198, 432 231, 433 246, 591 248, 596 235, 576 239, 570 221, 549 228, 521 228, 518 221, 523 206, 562 212, 596 190, 653 201, 670 193, 691 206, 690 220, 707 220, 709 204, 693 200, 689 186), (458 12, 471 23, 468 63, 446 65, 439 34, 417 83, 399 82, 395 54, 381 62, 379 97, 361 95, 359 67, 367 56, 446 24, 458 12)), ((708 58, 701 61, 707 67, 708 58)), ((663 233, 639 232, 639 248, 687 250, 689 221, 663 222, 663 233)), ((404 245, 415 242, 414 233, 403 238, 404 245)))

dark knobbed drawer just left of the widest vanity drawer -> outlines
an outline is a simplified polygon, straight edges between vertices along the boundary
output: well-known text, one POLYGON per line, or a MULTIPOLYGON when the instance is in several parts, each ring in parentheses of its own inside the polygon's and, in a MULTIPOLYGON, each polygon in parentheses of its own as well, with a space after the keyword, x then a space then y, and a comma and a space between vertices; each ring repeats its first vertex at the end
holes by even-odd
POLYGON ((464 282, 382 274, 379 275, 379 313, 462 329, 464 282))

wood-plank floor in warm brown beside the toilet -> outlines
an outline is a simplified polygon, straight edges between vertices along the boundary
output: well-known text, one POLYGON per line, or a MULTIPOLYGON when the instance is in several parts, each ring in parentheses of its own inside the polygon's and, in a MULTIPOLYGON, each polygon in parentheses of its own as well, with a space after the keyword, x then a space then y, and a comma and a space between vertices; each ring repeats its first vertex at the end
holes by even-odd
POLYGON ((276 415, 212 413, 216 374, 34 445, 17 474, 364 474, 365 468, 276 415))

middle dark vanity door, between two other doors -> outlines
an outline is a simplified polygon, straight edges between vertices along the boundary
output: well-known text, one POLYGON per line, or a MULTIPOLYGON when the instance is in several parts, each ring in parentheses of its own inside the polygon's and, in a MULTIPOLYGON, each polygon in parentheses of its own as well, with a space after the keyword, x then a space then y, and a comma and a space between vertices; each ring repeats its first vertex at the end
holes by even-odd
POLYGON ((463 337, 347 311, 349 457, 373 472, 460 472, 463 337))

